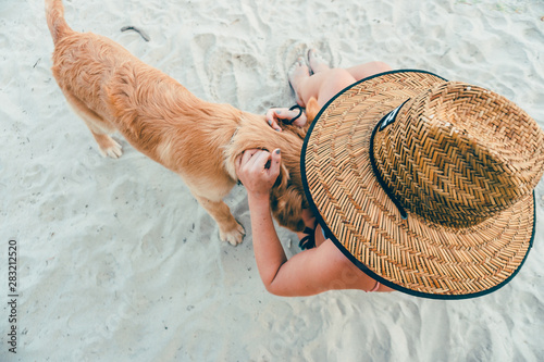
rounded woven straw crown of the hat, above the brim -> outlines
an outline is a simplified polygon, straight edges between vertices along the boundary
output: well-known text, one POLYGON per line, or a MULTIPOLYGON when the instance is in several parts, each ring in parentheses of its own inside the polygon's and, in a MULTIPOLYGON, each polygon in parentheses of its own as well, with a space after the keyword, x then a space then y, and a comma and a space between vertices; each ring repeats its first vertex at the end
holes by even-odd
POLYGON ((440 84, 384 117, 378 172, 411 213, 443 226, 481 223, 531 192, 544 171, 544 134, 506 98, 440 84))

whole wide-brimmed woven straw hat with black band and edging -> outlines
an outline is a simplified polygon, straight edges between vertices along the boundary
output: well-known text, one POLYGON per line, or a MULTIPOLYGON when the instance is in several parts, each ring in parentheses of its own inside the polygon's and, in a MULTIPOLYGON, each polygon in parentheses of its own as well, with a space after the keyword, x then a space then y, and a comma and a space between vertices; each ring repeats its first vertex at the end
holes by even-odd
POLYGON ((336 95, 306 136, 306 195, 376 280, 460 299, 508 283, 531 248, 544 133, 490 90, 395 71, 336 95))

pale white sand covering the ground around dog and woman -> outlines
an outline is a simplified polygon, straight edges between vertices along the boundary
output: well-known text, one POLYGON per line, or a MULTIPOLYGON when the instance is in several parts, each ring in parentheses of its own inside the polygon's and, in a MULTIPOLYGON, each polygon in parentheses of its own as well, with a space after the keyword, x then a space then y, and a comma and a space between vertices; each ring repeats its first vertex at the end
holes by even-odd
MULTIPOLYGON (((544 3, 65 1, 198 97, 255 113, 292 105, 307 47, 337 66, 382 60, 493 89, 544 127, 544 3), (151 41, 125 25, 141 27, 151 41)), ((246 192, 227 199, 237 248, 177 176, 122 141, 103 159, 51 76, 44 3, 0 2, 0 360, 542 361, 544 185, 534 248, 503 289, 466 301, 398 292, 267 294, 246 192), (17 241, 17 353, 8 351, 8 241, 17 241)), ((280 230, 290 254, 295 236, 280 230)))

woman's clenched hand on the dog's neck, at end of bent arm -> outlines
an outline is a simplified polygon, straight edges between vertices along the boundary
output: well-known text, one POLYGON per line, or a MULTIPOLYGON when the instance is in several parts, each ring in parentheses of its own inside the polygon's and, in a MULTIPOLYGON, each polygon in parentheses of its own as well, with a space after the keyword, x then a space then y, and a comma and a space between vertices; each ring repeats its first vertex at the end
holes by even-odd
POLYGON ((272 153, 264 150, 250 149, 236 158, 236 175, 244 184, 249 196, 270 198, 270 189, 280 175, 280 149, 272 153))

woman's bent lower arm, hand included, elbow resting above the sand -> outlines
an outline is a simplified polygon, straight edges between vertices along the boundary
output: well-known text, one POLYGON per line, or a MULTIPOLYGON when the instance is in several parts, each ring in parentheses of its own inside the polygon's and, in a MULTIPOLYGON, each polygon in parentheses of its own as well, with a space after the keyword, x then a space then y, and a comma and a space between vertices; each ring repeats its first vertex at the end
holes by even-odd
MULTIPOLYGON (((236 173, 248 191, 254 252, 267 290, 279 296, 311 296, 330 289, 364 289, 364 274, 331 240, 299 252, 289 261, 277 237, 270 211, 270 189, 280 172, 279 150, 248 150, 236 162, 236 173), (270 161, 270 167, 267 163, 270 161), (362 277, 362 278, 361 278, 362 277)), ((369 282, 372 287, 372 282, 369 282)))

